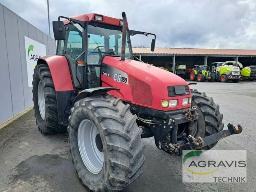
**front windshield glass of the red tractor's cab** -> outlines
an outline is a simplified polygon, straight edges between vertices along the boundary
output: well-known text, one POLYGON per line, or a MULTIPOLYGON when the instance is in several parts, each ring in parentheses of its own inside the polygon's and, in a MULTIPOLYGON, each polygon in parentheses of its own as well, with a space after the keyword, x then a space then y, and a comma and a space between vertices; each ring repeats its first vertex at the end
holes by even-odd
MULTIPOLYGON (((114 51, 115 55, 121 56, 122 31, 121 28, 104 28, 88 24, 88 51, 87 63, 98 64, 104 52, 114 51)), ((130 43, 128 43, 128 32, 126 33, 125 57, 132 59, 130 43)))

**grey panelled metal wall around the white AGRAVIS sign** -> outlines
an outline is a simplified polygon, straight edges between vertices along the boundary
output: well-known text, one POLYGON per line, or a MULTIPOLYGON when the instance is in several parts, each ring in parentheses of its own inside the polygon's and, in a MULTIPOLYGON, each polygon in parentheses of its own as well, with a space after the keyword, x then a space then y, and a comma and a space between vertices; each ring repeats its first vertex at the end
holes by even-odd
POLYGON ((0 124, 33 105, 24 36, 55 54, 55 40, 0 4, 0 124))

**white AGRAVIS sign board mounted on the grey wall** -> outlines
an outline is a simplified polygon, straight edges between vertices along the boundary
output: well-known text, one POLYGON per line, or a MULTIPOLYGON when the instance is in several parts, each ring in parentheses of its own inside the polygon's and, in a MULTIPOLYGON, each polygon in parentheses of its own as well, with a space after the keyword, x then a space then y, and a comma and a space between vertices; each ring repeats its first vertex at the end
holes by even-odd
POLYGON ((38 58, 46 55, 46 47, 33 39, 25 37, 25 51, 28 71, 28 87, 32 87, 34 68, 38 58))

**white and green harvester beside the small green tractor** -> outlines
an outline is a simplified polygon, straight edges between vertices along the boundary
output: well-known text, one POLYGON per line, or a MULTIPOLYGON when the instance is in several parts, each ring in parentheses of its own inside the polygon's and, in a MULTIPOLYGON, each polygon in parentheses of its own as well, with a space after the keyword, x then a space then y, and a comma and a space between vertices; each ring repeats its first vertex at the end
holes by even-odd
POLYGON ((240 68, 243 68, 243 65, 238 61, 212 63, 212 72, 215 73, 216 81, 221 82, 232 80, 233 83, 237 83, 240 78, 240 68))

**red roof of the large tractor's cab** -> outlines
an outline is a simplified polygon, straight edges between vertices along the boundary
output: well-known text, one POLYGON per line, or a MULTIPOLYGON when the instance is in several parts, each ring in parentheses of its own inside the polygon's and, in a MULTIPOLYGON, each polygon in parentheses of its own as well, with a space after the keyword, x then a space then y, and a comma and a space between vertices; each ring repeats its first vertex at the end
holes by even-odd
MULTIPOLYGON (((98 14, 98 13, 88 13, 88 14, 82 14, 82 15, 75 15, 75 16, 72 16, 70 18, 80 20, 80 21, 85 21, 85 22, 93 21, 93 22, 104 23, 104 24, 108 24, 108 25, 114 25, 114 26, 122 27, 122 25, 120 25, 120 20, 122 20, 122 19, 108 17, 108 16, 101 15, 101 14, 98 14), (95 20, 95 15, 102 16, 102 21, 95 20)), ((63 20, 63 22, 64 22, 64 25, 66 25, 68 23, 72 23, 72 21, 69 21, 67 19, 63 20)), ((128 29, 128 23, 127 23, 127 29, 128 29)))

